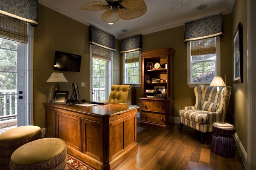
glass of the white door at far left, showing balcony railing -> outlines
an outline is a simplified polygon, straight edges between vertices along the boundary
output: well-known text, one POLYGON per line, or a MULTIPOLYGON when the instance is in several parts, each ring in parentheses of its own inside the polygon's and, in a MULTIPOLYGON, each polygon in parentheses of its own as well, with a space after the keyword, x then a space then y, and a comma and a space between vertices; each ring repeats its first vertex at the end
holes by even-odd
POLYGON ((17 126, 17 45, 0 38, 0 133, 17 126))

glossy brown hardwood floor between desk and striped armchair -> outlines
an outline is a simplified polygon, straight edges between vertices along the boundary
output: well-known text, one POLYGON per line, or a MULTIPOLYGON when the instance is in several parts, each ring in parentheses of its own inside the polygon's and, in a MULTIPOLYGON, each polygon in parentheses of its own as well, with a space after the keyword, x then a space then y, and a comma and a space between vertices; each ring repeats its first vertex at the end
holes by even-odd
POLYGON ((201 144, 200 133, 187 126, 182 133, 179 124, 171 129, 142 128, 145 129, 137 134, 138 153, 126 158, 115 170, 245 170, 237 150, 235 158, 212 153, 212 133, 201 144))

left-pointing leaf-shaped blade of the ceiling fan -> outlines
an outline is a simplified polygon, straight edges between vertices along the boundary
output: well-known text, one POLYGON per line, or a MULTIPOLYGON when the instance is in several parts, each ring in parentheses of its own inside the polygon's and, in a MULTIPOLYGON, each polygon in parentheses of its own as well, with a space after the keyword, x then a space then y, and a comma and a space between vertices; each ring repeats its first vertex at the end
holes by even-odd
POLYGON ((81 7, 81 9, 88 11, 100 11, 111 9, 111 6, 109 6, 108 3, 104 1, 88 1, 84 6, 81 7))

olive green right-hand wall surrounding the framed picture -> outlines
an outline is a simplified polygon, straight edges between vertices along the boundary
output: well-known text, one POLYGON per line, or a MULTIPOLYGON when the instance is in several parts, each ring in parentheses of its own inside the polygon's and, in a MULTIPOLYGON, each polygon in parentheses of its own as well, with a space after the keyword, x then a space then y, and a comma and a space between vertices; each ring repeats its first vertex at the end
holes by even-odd
POLYGON ((243 83, 233 84, 234 125, 236 134, 247 152, 247 1, 236 0, 232 12, 232 33, 241 23, 243 39, 243 83))

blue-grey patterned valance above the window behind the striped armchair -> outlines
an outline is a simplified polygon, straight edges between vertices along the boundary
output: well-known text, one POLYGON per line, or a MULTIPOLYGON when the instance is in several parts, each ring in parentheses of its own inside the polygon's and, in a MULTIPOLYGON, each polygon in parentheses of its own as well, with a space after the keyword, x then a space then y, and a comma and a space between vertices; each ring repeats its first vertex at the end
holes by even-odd
POLYGON ((185 23, 185 42, 222 35, 222 14, 185 23))

